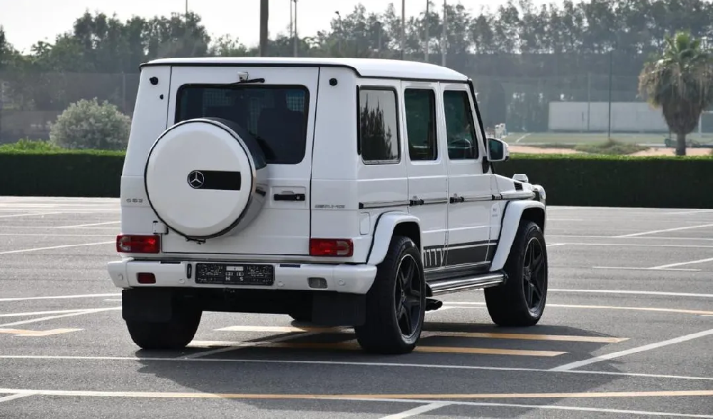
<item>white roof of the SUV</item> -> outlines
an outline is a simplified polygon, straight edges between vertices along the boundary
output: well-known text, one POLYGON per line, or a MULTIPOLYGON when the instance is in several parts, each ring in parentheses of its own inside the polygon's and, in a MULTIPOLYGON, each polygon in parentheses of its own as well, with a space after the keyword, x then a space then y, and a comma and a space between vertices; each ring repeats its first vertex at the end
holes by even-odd
POLYGON ((362 77, 468 81, 468 76, 448 67, 420 61, 352 58, 203 57, 155 59, 141 66, 327 66, 352 69, 362 77))

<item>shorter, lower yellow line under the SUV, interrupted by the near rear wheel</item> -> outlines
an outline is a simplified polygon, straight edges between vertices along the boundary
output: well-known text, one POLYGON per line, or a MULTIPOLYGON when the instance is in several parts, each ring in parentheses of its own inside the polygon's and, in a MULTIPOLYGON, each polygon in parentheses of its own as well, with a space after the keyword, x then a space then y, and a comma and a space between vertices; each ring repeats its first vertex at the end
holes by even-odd
MULTIPOLYGON (((326 350, 361 350, 361 347, 356 340, 337 343, 319 343, 319 342, 225 342, 219 340, 194 340, 190 343, 192 347, 203 346, 225 346, 235 349, 244 347, 260 347, 260 348, 282 348, 282 349, 326 349, 326 350)), ((481 353, 486 355, 518 355, 518 356, 558 356, 566 352, 557 352, 552 350, 516 350, 516 349, 496 349, 496 348, 468 348, 456 346, 430 346, 418 345, 414 352, 425 353, 481 353)))

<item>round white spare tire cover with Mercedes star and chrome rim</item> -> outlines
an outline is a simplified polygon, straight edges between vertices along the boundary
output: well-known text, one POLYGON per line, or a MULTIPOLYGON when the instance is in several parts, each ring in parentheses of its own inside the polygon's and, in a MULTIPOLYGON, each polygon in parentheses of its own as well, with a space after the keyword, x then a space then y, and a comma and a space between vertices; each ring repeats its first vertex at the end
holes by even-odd
POLYGON ((186 238, 242 230, 265 201, 267 165, 255 137, 222 118, 175 124, 153 144, 144 172, 160 221, 186 238))

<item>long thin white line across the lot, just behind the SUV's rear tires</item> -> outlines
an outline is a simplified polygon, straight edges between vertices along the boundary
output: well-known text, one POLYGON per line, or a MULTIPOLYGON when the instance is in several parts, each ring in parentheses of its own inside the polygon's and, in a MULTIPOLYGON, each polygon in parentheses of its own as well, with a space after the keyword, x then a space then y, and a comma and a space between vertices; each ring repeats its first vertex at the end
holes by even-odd
MULTIPOLYGON (((713 377, 695 377, 688 375, 665 375, 646 373, 620 373, 615 371, 590 371, 590 370, 547 370, 542 368, 518 367, 488 367, 481 365, 449 365, 426 363, 386 363, 369 361, 338 361, 338 360, 280 360, 280 359, 255 359, 255 358, 168 358, 168 357, 138 357, 138 356, 78 356, 78 355, 0 355, 0 360, 94 360, 94 361, 147 361, 147 362, 205 362, 205 363, 259 363, 259 364, 285 364, 285 365, 347 365, 359 367, 389 367, 389 368, 426 368, 444 370, 483 370, 483 371, 524 371, 530 373, 568 373, 582 375, 611 375, 616 377, 662 378, 670 380, 713 381, 713 377)), ((0 390, 0 393, 2 391, 0 390)), ((5 393, 14 393, 6 391, 5 393)))

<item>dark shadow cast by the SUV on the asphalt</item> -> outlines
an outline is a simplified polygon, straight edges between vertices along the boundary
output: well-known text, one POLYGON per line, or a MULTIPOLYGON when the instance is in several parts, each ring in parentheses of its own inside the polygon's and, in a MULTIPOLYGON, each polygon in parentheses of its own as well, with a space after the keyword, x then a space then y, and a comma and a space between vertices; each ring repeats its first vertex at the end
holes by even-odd
MULTIPOLYGON (((303 326, 304 323, 292 323, 303 326)), ((613 375, 588 375, 546 371, 557 365, 592 357, 605 345, 618 343, 587 341, 586 338, 616 337, 566 326, 537 325, 530 328, 505 328, 478 323, 438 323, 424 325, 424 338, 414 353, 405 355, 371 355, 354 342, 352 330, 341 333, 278 333, 260 338, 262 342, 294 335, 277 345, 235 347, 208 345, 169 353, 138 350, 139 358, 182 358, 188 354, 225 348, 225 351, 199 357, 195 361, 165 362, 144 359, 139 373, 170 380, 182 388, 200 393, 240 394, 235 398, 262 410, 291 410, 324 413, 391 414, 413 405, 386 403, 346 403, 341 400, 281 398, 280 395, 409 395, 411 398, 448 398, 449 394, 479 395, 458 398, 463 401, 493 403, 555 404, 562 398, 485 398, 483 394, 580 393, 602 388, 620 380, 613 375), (431 335, 431 333, 434 333, 431 335), (444 333, 445 335, 438 335, 444 333), (455 333, 451 335, 449 333, 455 333), (496 337, 463 337, 463 333, 522 333, 528 339, 496 337), (553 336, 554 335, 554 336, 553 336), (570 340, 556 340, 557 338, 570 340), (545 340, 543 340, 545 339, 545 340), (577 340, 580 339, 580 340, 577 340), (334 346, 334 345, 337 346, 334 346), (446 348, 436 352, 419 352, 419 348, 446 348), (449 352, 447 348, 466 348, 449 352), (468 353, 468 348, 560 351, 560 355, 501 355, 468 353), (393 363, 394 365, 386 365, 393 363), (474 367, 474 368, 473 368, 474 367), (498 369, 500 368, 500 369, 498 369), (513 369, 508 369, 513 368, 513 369), (521 368, 521 369, 518 369, 521 368), (257 395, 257 396, 252 396, 257 395), (260 395, 265 398, 260 398, 260 395), (394 410, 396 408, 396 410, 394 410)), ((226 340, 240 341, 240 334, 229 334, 226 340)), ((260 341, 252 340, 252 342, 260 341)), ((596 340, 596 339, 593 339, 596 340)), ((597 403, 599 405, 599 403, 597 403)), ((518 408, 491 412, 492 417, 523 414, 518 408)), ((437 414, 437 413, 436 413, 437 414)), ((463 416, 467 416, 463 413, 463 416)))

